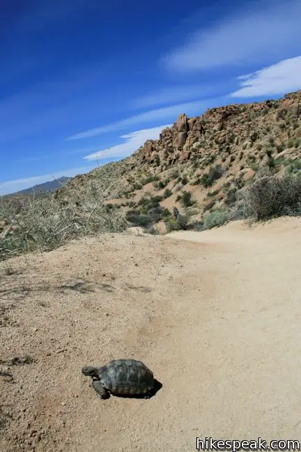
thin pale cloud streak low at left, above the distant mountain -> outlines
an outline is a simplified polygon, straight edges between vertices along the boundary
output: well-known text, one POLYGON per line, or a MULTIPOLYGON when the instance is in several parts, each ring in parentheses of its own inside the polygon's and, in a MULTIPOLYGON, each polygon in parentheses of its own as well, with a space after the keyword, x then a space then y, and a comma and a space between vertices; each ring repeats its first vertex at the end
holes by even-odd
POLYGON ((91 171, 95 166, 79 167, 61 170, 53 174, 44 174, 43 176, 33 176, 27 177, 26 179, 16 179, 15 181, 6 181, 0 183, 0 195, 7 195, 8 193, 15 193, 25 188, 29 188, 39 183, 44 183, 47 181, 53 181, 54 179, 59 179, 60 177, 73 177, 77 174, 84 174, 91 171))

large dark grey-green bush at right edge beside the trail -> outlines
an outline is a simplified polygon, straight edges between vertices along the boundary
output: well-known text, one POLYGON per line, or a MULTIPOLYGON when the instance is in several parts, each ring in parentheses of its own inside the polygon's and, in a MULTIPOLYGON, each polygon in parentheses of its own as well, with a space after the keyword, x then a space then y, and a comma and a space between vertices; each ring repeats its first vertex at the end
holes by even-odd
POLYGON ((243 195, 245 214, 255 220, 301 215, 301 174, 263 176, 243 195))

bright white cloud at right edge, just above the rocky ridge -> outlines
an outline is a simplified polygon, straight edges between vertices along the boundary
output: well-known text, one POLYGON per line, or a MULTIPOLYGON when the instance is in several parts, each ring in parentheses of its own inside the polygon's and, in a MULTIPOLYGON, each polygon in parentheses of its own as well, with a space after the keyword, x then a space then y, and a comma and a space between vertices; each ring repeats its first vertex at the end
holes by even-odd
POLYGON ((275 96, 301 89, 301 56, 279 61, 253 74, 238 77, 242 88, 231 97, 275 96))

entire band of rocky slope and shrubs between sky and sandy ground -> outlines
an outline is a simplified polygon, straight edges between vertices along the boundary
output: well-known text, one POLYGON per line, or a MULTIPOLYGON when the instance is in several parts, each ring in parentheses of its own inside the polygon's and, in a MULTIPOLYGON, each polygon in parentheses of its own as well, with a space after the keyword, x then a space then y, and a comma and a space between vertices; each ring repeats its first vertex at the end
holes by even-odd
POLYGON ((131 226, 164 233, 299 215, 300 170, 301 91, 194 118, 183 113, 159 140, 74 177, 40 202, 3 202, 0 258, 131 226))

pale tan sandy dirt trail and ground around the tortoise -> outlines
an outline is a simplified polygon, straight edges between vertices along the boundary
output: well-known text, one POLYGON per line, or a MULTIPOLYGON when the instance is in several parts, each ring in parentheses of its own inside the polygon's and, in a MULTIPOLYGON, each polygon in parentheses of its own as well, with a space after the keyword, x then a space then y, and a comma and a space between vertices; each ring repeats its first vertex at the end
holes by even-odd
POLYGON ((2 262, 0 450, 301 439, 300 264, 300 218, 105 234, 2 262), (81 374, 122 357, 153 370, 153 398, 100 400, 81 374))

